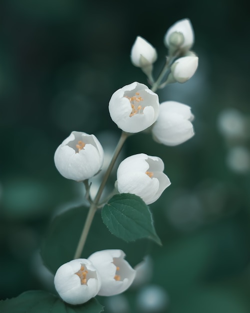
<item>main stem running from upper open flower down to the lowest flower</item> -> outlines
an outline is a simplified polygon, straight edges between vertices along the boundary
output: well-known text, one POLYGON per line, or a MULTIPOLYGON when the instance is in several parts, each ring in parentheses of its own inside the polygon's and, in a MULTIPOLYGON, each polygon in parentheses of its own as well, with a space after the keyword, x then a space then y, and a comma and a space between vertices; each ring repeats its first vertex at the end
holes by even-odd
POLYGON ((76 251, 75 251, 75 255, 74 255, 74 259, 75 258, 79 258, 81 256, 81 253, 82 253, 82 250, 83 250, 83 247, 84 247, 84 244, 86 242, 86 239, 87 239, 87 235, 88 235, 88 232, 89 232, 89 229, 90 229, 90 226, 91 226, 91 223, 93 221, 93 218, 94 218, 94 215, 95 215, 95 212, 97 210, 97 207, 98 207, 98 202, 100 200, 100 197, 102 195, 102 191, 106 185, 106 182, 108 180, 108 177, 111 173, 111 170, 115 164, 115 161, 121 151, 121 148, 124 144, 124 142, 126 141, 127 137, 128 137, 128 133, 127 132, 122 132, 121 134, 121 137, 120 137, 120 140, 118 141, 117 143, 117 146, 115 148, 115 151, 114 151, 114 155, 109 163, 109 166, 105 172, 105 175, 102 179, 102 182, 100 184, 100 187, 96 193, 96 196, 93 200, 93 203, 90 205, 90 208, 89 208, 89 211, 88 211, 88 216, 86 218, 86 221, 85 221, 85 224, 84 224, 84 227, 83 227, 83 230, 82 230, 82 233, 81 233, 81 236, 80 236, 80 239, 78 241, 78 245, 77 245, 77 248, 76 248, 76 251))

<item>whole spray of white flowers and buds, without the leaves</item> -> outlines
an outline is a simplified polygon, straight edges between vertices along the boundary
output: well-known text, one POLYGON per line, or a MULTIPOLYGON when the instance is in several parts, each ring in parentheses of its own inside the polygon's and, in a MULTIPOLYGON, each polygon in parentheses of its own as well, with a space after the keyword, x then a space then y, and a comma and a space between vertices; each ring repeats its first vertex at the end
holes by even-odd
MULTIPOLYGON (((132 46, 131 61, 146 73, 152 88, 135 81, 116 90, 111 96, 109 113, 122 129, 121 139, 129 134, 147 131, 157 142, 177 145, 194 135, 194 115, 190 106, 176 101, 160 104, 155 93, 168 83, 187 81, 197 69, 198 57, 190 51, 194 43, 190 20, 182 19, 171 26, 165 34, 164 43, 169 55, 157 79, 152 74, 153 63, 157 59, 156 49, 141 36, 136 38, 132 46)), ((99 203, 101 192, 122 144, 118 143, 94 200, 88 198, 90 210, 95 211, 102 205, 99 203)), ((58 171, 68 179, 84 181, 86 194, 89 194, 90 188, 87 180, 99 173, 103 160, 104 150, 98 139, 93 134, 80 131, 72 131, 54 155, 58 171)), ((171 184, 163 170, 164 162, 158 156, 145 153, 131 155, 118 166, 116 192, 136 194, 146 204, 151 204, 171 184)), ((76 255, 80 255, 78 251, 77 248, 76 255)), ((70 304, 84 303, 97 294, 109 296, 121 293, 135 278, 135 270, 124 257, 122 250, 113 249, 97 251, 87 259, 69 261, 58 268, 54 278, 55 288, 61 298, 70 304)))

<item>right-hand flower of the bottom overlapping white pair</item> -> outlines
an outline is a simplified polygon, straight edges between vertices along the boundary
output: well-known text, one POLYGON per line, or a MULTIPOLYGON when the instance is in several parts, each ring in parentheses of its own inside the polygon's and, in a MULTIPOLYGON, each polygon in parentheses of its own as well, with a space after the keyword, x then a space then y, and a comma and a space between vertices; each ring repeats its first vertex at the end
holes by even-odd
POLYGON ((124 257, 125 253, 116 249, 97 251, 88 257, 101 277, 98 295, 118 294, 131 285, 136 272, 124 257))

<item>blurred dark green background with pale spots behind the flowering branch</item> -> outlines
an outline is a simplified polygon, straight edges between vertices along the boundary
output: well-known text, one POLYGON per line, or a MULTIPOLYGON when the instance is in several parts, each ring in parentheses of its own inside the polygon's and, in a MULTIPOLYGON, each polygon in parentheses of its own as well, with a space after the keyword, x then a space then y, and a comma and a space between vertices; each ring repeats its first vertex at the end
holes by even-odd
MULTIPOLYGON (((136 36, 157 48, 156 75, 166 54, 164 34, 189 17, 199 68, 187 83, 167 86, 159 97, 192 107, 196 135, 167 147, 140 133, 127 140, 122 155, 144 152, 165 162, 172 184, 151 205, 163 246, 147 248, 143 279, 131 290, 99 301, 110 313, 250 311, 245 5, 241 0, 0 1, 1 298, 52 290, 39 247, 56 212, 84 203, 83 185, 57 172, 56 147, 79 130, 94 133, 107 155, 112 153, 120 131, 110 119, 109 99, 125 84, 147 83, 130 62, 136 36)), ((125 252, 133 254, 133 245, 125 252)))

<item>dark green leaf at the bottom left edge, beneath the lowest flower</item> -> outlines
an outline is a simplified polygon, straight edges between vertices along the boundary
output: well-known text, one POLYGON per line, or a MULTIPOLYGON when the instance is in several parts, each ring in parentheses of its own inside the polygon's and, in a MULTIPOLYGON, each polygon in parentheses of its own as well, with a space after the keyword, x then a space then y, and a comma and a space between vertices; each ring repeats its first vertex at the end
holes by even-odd
POLYGON ((0 301, 1 313, 100 313, 103 306, 92 298, 80 305, 70 305, 54 294, 30 290, 16 298, 0 301))

